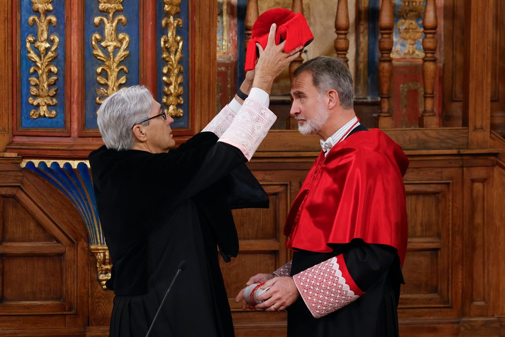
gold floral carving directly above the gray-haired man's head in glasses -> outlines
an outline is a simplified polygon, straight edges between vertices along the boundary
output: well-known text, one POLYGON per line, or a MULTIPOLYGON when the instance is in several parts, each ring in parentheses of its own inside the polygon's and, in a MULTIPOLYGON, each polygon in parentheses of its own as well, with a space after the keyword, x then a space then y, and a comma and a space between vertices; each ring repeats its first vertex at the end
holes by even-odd
POLYGON ((93 20, 96 27, 100 25, 100 22, 104 23, 105 36, 105 39, 100 33, 94 33, 91 36, 93 56, 103 62, 103 65, 96 68, 96 81, 101 85, 105 85, 105 87, 99 87, 96 90, 96 104, 102 104, 107 97, 118 91, 120 85, 126 83, 126 75, 120 78, 118 78, 118 76, 121 70, 126 74, 128 73, 128 68, 124 65, 120 65, 120 63, 130 54, 130 52, 126 50, 130 43, 130 36, 126 33, 117 33, 118 23, 125 26, 126 17, 124 15, 114 17, 115 12, 123 11, 122 3, 123 0, 98 0, 98 10, 108 13, 109 16, 107 18, 97 16, 93 20), (100 49, 97 43, 103 39, 104 41, 100 42, 100 45, 107 50, 107 53, 100 49), (119 49, 119 51, 115 54, 117 49, 119 49), (107 79, 102 76, 104 72, 107 74, 107 79))

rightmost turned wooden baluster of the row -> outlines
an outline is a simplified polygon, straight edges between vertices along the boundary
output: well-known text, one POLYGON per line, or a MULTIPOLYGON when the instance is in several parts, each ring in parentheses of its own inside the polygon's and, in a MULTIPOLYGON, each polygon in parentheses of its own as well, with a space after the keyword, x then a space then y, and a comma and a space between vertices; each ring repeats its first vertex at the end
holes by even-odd
POLYGON ((437 7, 435 0, 426 0, 423 27, 423 81, 424 81, 424 111, 419 118, 419 127, 438 127, 438 116, 433 110, 435 101, 435 80, 437 77, 437 7))

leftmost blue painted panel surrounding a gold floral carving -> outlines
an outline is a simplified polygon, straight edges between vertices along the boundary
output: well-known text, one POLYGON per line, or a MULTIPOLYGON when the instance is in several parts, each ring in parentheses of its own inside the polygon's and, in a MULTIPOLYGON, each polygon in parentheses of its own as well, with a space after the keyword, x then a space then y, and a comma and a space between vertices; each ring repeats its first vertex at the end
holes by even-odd
MULTIPOLYGON (((57 24, 56 27, 53 27, 52 24, 49 24, 48 29, 48 37, 47 42, 49 43, 51 48, 54 43, 50 40, 50 36, 55 34, 60 39, 58 47, 56 49, 57 57, 51 61, 50 64, 53 64, 58 69, 56 74, 49 73, 49 77, 56 76, 58 79, 56 83, 49 86, 51 88, 57 88, 56 94, 53 96, 58 103, 54 107, 48 107, 49 111, 56 111, 56 117, 48 118, 48 117, 38 117, 38 118, 30 118, 30 111, 32 109, 38 110, 38 107, 31 105, 28 103, 28 98, 30 95, 30 83, 28 82, 28 78, 35 77, 38 78, 38 74, 35 71, 33 74, 30 74, 29 70, 32 66, 35 66, 35 63, 31 60, 28 60, 27 55, 28 51, 26 50, 26 38, 28 35, 33 35, 35 40, 37 40, 37 31, 38 26, 37 23, 34 22, 33 26, 30 27, 28 25, 28 18, 30 16, 35 16, 36 18, 40 18, 39 12, 34 12, 32 10, 32 2, 31 0, 21 0, 21 9, 20 9, 20 25, 21 25, 21 34, 20 34, 20 46, 21 46, 21 69, 20 69, 20 86, 21 86, 21 127, 23 128, 51 128, 51 129, 64 129, 65 128, 65 0, 54 0, 53 1, 53 12, 46 12, 45 17, 47 18, 50 15, 56 17, 57 24)), ((37 57, 40 58, 40 52, 35 48, 33 44, 31 44, 32 50, 37 54, 37 57)), ((47 51, 45 52, 47 54, 47 51)), ((38 86, 34 86, 38 89, 38 86)), ((33 97, 36 98, 36 97, 33 97)))

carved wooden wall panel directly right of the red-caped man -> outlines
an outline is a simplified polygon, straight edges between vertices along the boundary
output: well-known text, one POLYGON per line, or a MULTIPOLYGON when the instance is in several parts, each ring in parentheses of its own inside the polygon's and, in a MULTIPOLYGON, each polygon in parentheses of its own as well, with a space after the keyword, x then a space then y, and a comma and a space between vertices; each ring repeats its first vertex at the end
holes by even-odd
MULTIPOLYGON (((406 284, 400 293, 400 321, 411 322, 419 317, 455 318, 460 314, 461 164, 450 159, 411 159, 405 176, 409 243, 403 264, 406 284)), ((445 325, 440 327, 446 328, 450 330, 445 325)))

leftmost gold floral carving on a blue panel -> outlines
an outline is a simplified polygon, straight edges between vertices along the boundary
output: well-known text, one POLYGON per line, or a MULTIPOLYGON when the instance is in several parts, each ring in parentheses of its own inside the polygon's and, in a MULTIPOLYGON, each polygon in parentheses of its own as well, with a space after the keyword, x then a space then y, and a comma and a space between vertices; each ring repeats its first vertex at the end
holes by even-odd
POLYGON ((49 36, 49 41, 51 41, 53 45, 47 42, 49 24, 56 27, 57 20, 54 15, 45 16, 46 12, 53 11, 52 2, 53 0, 32 0, 32 10, 34 12, 39 12, 40 17, 32 15, 28 18, 30 27, 33 27, 33 23, 37 24, 37 39, 35 39, 35 36, 32 34, 26 37, 27 57, 35 63, 29 70, 30 75, 35 72, 38 74, 38 78, 28 78, 28 82, 32 85, 30 86, 31 96, 28 98, 28 103, 38 107, 38 110, 32 109, 30 111, 30 118, 56 117, 56 111, 50 111, 48 108, 54 107, 58 103, 57 99, 54 98, 57 88, 50 88, 50 86, 55 84, 58 79, 56 76, 51 76, 52 74, 58 73, 58 69, 54 64, 51 64, 51 61, 58 56, 56 49, 58 48, 60 39, 56 34, 51 34, 51 36, 49 36), (40 55, 35 53, 32 44, 40 55))

